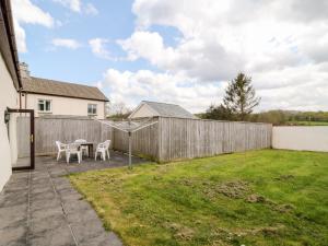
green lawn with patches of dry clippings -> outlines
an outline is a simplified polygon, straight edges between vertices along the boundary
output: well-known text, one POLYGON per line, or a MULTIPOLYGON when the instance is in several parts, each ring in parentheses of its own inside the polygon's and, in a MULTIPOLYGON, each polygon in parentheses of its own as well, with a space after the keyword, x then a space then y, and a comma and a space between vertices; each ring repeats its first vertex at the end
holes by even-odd
POLYGON ((251 151, 70 179, 126 245, 328 245, 328 153, 251 151))

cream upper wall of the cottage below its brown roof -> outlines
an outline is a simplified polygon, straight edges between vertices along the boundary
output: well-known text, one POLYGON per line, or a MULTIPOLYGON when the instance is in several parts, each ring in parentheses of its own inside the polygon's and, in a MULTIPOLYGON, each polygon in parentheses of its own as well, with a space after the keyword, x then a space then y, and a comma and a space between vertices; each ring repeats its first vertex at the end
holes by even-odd
POLYGON ((61 96, 49 96, 39 94, 25 94, 22 96, 22 108, 34 109, 35 117, 40 115, 70 115, 70 116, 87 116, 87 104, 97 105, 97 119, 105 118, 105 102, 92 99, 79 99, 61 96), (37 108, 38 99, 51 101, 51 114, 39 114, 37 108), (26 106, 25 106, 26 102, 26 106))

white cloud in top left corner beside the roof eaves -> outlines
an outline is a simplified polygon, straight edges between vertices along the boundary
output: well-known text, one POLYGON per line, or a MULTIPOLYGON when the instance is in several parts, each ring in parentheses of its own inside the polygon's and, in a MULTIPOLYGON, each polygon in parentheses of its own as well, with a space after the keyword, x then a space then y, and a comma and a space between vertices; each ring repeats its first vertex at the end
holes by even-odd
POLYGON ((22 25, 37 24, 50 28, 55 21, 48 12, 33 4, 31 0, 13 0, 12 9, 17 49, 20 52, 27 52, 26 35, 22 25))

